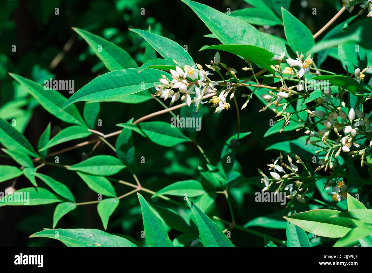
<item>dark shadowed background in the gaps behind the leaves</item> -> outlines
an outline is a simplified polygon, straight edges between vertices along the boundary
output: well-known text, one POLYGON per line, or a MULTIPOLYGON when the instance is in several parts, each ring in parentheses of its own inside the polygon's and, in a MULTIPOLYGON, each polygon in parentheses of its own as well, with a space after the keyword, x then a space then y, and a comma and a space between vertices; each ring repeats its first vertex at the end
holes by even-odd
MULTIPOLYGON (((221 12, 224 12, 227 7, 230 7, 231 10, 248 7, 242 0, 199 2, 208 4, 221 12)), ((312 33, 315 33, 330 20, 331 16, 337 13, 340 3, 335 2, 341 1, 309 0, 302 2, 307 3, 307 5, 301 6, 301 1, 292 1, 290 12, 304 22, 312 33), (317 15, 312 15, 313 7, 317 8, 317 15)), ((334 26, 349 16, 348 12, 344 12, 334 26)), ((71 27, 88 30, 118 44, 141 65, 145 42, 140 36, 130 32, 128 28, 147 30, 148 26, 151 26, 154 33, 166 36, 182 46, 187 45, 190 55, 200 64, 209 63, 213 59, 214 52, 198 52, 198 50, 203 45, 219 43, 216 39, 203 37, 210 31, 196 14, 181 1, 1 1, 0 107, 17 96, 29 98, 25 95, 25 91, 22 91, 22 88, 19 88, 7 74, 8 72, 35 81, 43 81, 45 78, 49 78, 49 74, 54 74, 55 77, 53 78, 55 79, 74 80, 76 90, 97 75, 107 72, 86 42, 71 27), (54 14, 55 7, 59 8, 59 15, 54 14), (145 8, 145 15, 140 14, 142 7, 145 8), (62 48, 68 41, 73 42, 72 46, 67 52, 64 52, 62 48), (16 45, 16 52, 11 51, 12 45, 16 45), (51 67, 52 60, 61 52, 63 58, 57 66, 51 67)), ((265 31, 262 26, 257 27, 261 31, 265 31)), ((284 37, 282 26, 270 27, 266 31, 284 37)), ((226 52, 220 52, 220 54, 222 62, 241 73, 241 67, 245 66, 243 62, 232 54, 226 52)), ((331 58, 327 59, 322 68, 334 72, 343 72, 338 61, 331 58), (339 71, 335 66, 339 66, 339 71)), ((151 92, 154 92, 154 90, 151 90, 151 92)), ((67 91, 63 95, 65 97, 70 96, 67 91)), ((166 104, 168 105, 168 103, 166 104)), ((238 103, 242 105, 244 98, 238 96, 238 103)), ((42 107, 35 107, 36 105, 30 99, 29 104, 22 107, 24 111, 17 114, 19 115, 17 118, 24 120, 24 134, 33 147, 37 146, 39 136, 49 122, 51 122, 55 132, 58 131, 58 127, 63 129, 68 126, 68 124, 46 112, 42 107)), ((76 105, 82 113, 83 103, 77 103, 76 105)), ((285 141, 300 136, 299 133, 290 132, 263 138, 263 134, 269 128, 269 119, 273 116, 269 111, 258 113, 262 106, 257 99, 254 99, 247 108, 241 111, 241 131, 252 131, 248 137, 241 141, 237 155, 237 160, 241 165, 241 173, 247 178, 259 176, 256 167, 266 170, 266 164, 278 156, 276 152, 266 152, 266 147, 278 142, 278 139, 285 141)), ((101 103, 99 118, 102 119, 103 126, 99 130, 106 134, 116 131, 118 130, 118 127, 115 127, 117 123, 126 122, 132 117, 137 119, 161 109, 163 109, 161 105, 154 100, 142 104, 101 103)), ((235 106, 232 105, 231 110, 224 111, 223 114, 219 115, 213 114, 213 110, 208 107, 204 107, 203 110, 202 131, 199 133, 197 140, 205 150, 206 155, 211 159, 212 165, 216 165, 224 142, 232 134, 237 133, 235 106)), ((12 116, 12 113, 8 113, 8 115, 12 116)), ((170 117, 169 114, 165 114, 152 120, 168 121, 170 117)), ((6 116, 4 118, 9 120, 13 117, 6 116)), ((109 141, 114 144, 115 137, 109 139, 109 141)), ((79 142, 81 141, 61 144, 52 148, 51 152, 79 142)), ((145 156, 147 160, 145 166, 134 164, 134 171, 142 184, 154 191, 176 181, 195 178, 197 166, 205 163, 193 144, 167 148, 149 143, 136 133, 134 133, 134 142, 137 158, 145 156)), ((67 165, 77 163, 81 160, 82 153, 89 153, 91 149, 92 145, 89 145, 64 153, 60 155, 60 163, 67 165)), ((94 155, 98 154, 112 155, 113 153, 108 147, 101 145, 94 153, 94 155)), ((3 164, 14 164, 12 160, 5 158, 0 158, 0 160, 3 164)), ((73 172, 48 166, 42 169, 42 173, 52 173, 52 177, 57 180, 60 179, 68 185, 76 196, 77 202, 91 201, 96 198, 96 194, 87 188, 73 172)), ((126 171, 119 173, 116 177, 133 182, 132 177, 126 171)), ((0 191, 3 191, 12 183, 13 181, 1 183, 0 191)), ((114 185, 118 195, 129 190, 126 186, 114 185)), ((31 184, 24 176, 17 179, 16 189, 28 186, 31 186, 31 184)), ((257 189, 245 184, 237 187, 237 196, 239 193, 245 194, 239 201, 235 200, 233 204, 238 224, 244 225, 248 220, 259 215, 266 215, 282 208, 280 205, 273 205, 272 203, 255 203, 253 193, 257 189), (236 202, 240 202, 239 205, 236 202)), ((147 194, 144 195, 145 198, 149 197, 147 194)), ((216 204, 217 206, 211 208, 211 211, 215 213, 214 215, 218 214, 221 215, 221 218, 230 220, 230 213, 224 196, 218 196, 216 204)), ((54 208, 54 204, 35 207, 1 207, 0 246, 61 246, 62 244, 56 240, 28 238, 29 235, 42 230, 42 228, 51 228, 54 208)), ((136 240, 140 240, 139 232, 143 228, 141 218, 137 196, 133 195, 122 199, 119 207, 110 217, 108 232, 130 235, 136 240)), ((96 211, 96 205, 78 206, 60 220, 57 228, 103 229, 96 211)), ((256 229, 262 230, 262 228, 256 229)), ((239 238, 239 240, 235 240, 234 236, 231 238, 235 246, 263 246, 263 239, 260 237, 238 230, 234 232, 238 234, 235 238, 239 238)), ((265 232, 285 239, 285 230, 266 229, 265 232)), ((176 235, 173 234, 173 231, 170 233, 171 238, 176 235)))

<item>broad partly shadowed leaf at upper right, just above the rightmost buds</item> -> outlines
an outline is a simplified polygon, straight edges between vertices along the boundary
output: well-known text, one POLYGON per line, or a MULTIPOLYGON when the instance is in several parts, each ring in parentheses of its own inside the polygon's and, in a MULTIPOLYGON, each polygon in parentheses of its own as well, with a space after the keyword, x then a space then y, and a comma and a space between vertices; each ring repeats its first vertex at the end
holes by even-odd
POLYGON ((342 67, 346 69, 347 66, 350 72, 354 72, 358 67, 367 67, 366 50, 354 42, 339 45, 339 59, 342 67))

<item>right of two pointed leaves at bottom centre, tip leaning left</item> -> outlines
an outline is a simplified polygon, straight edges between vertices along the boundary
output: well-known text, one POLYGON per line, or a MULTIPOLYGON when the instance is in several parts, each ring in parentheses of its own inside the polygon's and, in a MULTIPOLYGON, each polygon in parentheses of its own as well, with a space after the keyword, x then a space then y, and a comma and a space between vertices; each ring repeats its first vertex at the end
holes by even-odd
POLYGON ((195 216, 204 247, 235 247, 215 222, 209 219, 192 201, 187 200, 187 203, 195 216))

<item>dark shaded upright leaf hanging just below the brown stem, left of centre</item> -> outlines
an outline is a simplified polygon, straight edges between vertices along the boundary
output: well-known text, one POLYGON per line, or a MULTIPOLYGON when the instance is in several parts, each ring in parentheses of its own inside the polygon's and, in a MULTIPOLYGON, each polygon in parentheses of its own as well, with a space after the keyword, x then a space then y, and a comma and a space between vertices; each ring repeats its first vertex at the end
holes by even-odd
MULTIPOLYGON (((132 123, 133 119, 128 121, 132 123)), ((132 130, 123 128, 115 143, 116 155, 125 165, 129 165, 134 158, 134 143, 132 130)))

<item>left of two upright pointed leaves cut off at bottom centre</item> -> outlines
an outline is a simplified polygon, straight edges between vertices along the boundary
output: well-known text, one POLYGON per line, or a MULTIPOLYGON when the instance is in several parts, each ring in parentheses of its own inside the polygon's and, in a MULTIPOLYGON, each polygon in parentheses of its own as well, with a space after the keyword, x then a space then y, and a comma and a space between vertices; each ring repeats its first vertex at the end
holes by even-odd
POLYGON ((169 240, 167 231, 164 229, 163 223, 157 218, 154 212, 151 211, 145 198, 137 192, 140 200, 143 228, 145 231, 145 239, 150 247, 173 247, 173 243, 169 240))

